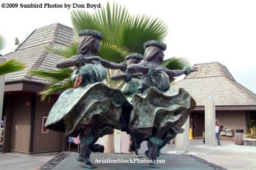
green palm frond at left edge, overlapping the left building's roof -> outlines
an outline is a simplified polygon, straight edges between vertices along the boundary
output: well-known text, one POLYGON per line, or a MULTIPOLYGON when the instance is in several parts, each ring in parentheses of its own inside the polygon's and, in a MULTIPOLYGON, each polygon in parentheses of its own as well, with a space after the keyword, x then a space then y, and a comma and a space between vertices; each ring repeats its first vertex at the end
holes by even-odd
POLYGON ((6 73, 17 72, 26 68, 24 63, 17 61, 16 59, 10 59, 0 64, 0 75, 4 75, 6 73))

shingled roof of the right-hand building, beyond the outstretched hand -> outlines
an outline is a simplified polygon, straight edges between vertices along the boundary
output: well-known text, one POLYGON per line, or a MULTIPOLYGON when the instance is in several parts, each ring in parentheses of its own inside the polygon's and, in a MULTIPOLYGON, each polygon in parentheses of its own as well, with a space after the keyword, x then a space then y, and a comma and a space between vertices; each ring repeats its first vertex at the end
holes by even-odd
POLYGON ((196 64, 197 72, 188 75, 174 87, 186 89, 198 107, 212 96, 216 106, 256 106, 256 95, 236 82, 228 69, 218 62, 196 64))

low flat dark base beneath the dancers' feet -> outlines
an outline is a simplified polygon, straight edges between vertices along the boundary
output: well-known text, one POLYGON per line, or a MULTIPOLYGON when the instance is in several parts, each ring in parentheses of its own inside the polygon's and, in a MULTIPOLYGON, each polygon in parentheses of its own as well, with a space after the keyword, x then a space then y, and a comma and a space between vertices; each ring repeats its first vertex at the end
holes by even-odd
MULTIPOLYGON (((149 166, 148 158, 142 156, 143 158, 134 158, 133 155, 126 153, 92 153, 91 162, 96 169, 155 169, 149 166)), ((77 157, 77 152, 63 152, 40 169, 84 169, 83 162, 77 162, 77 157)), ((160 169, 225 169, 194 155, 166 154, 157 160, 164 161, 159 163, 160 169)))

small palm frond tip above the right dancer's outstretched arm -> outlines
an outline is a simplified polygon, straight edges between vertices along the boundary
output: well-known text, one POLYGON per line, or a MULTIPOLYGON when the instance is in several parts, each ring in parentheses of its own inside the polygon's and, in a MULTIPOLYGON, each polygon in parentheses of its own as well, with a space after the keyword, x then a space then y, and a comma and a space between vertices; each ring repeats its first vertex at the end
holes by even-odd
POLYGON ((186 58, 177 58, 173 57, 170 59, 166 59, 161 63, 162 66, 170 70, 181 70, 184 66, 189 66, 189 61, 186 58))

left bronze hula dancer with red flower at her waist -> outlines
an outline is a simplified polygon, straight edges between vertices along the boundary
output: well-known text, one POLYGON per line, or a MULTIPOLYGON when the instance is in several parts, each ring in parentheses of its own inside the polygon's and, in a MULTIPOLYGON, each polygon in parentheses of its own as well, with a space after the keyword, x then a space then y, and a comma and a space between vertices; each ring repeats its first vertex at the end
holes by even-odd
POLYGON ((45 127, 65 132, 67 136, 80 134, 81 150, 78 161, 84 167, 95 168, 90 162, 90 147, 106 134, 113 134, 113 128, 120 129, 120 116, 129 114, 132 105, 120 89, 106 86, 106 68, 124 69, 124 65, 111 63, 99 56, 102 34, 85 29, 79 33, 77 55, 57 63, 58 68, 77 66, 71 75, 74 88, 61 93, 49 113, 45 127))

